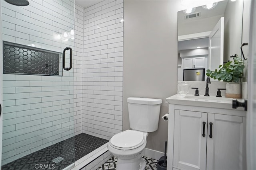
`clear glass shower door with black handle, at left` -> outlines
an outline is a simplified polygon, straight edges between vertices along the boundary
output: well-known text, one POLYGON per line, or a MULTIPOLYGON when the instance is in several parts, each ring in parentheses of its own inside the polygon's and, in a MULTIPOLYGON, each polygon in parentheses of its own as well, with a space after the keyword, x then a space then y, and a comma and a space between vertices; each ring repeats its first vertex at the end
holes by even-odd
POLYGON ((1 0, 2 169, 63 169, 75 160, 74 0, 29 3, 1 0))

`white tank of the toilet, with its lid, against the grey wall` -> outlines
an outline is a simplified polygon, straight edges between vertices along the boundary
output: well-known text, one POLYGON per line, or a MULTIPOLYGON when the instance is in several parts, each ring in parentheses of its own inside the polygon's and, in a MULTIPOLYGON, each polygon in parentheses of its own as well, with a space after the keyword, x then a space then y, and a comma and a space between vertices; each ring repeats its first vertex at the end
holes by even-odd
POLYGON ((143 132, 154 132, 158 129, 161 99, 130 97, 127 102, 130 128, 143 132))

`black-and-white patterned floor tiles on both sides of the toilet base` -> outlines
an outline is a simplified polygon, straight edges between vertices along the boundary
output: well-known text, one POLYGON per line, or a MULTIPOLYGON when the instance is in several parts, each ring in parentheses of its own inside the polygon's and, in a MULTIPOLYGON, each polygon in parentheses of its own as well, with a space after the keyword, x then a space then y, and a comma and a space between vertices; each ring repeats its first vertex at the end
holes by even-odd
MULTIPOLYGON (((145 170, 156 170, 157 169, 157 160, 142 156, 142 159, 146 161, 145 170)), ((110 158, 107 162, 102 164, 97 170, 116 170, 116 156, 110 158)))

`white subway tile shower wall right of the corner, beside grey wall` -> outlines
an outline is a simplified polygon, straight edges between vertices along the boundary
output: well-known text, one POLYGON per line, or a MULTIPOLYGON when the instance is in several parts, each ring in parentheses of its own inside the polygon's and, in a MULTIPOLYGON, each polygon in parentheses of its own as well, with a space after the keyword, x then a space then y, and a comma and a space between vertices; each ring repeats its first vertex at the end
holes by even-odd
POLYGON ((104 0, 84 9, 83 132, 108 140, 122 131, 123 7, 104 0))

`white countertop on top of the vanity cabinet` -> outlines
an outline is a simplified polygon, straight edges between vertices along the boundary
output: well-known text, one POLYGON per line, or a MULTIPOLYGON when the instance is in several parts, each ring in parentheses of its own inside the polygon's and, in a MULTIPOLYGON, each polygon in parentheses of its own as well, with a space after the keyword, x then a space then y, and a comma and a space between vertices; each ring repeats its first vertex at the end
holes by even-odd
MULTIPOLYGON (((237 99, 238 101, 243 101, 237 99)), ((232 109, 232 98, 223 98, 216 96, 194 96, 191 94, 180 95, 175 94, 169 98, 166 98, 166 103, 187 105, 187 106, 200 106, 200 107, 214 107, 222 109, 232 109)), ((238 107, 237 110, 244 110, 243 107, 238 107)))

